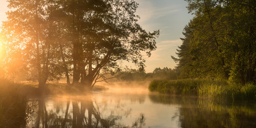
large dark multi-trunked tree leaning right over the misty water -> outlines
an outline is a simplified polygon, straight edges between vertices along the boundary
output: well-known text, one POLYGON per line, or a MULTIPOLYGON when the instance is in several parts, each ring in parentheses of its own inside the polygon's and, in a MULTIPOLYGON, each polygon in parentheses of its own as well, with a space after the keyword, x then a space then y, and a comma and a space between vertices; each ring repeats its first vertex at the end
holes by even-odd
POLYGON ((134 1, 70 1, 64 6, 72 27, 73 85, 90 90, 100 79, 102 70, 119 69, 118 61, 144 62, 156 49, 159 31, 146 33, 138 25, 134 1), (68 5, 69 4, 69 5, 68 5), (72 6, 71 6, 72 5, 72 6))

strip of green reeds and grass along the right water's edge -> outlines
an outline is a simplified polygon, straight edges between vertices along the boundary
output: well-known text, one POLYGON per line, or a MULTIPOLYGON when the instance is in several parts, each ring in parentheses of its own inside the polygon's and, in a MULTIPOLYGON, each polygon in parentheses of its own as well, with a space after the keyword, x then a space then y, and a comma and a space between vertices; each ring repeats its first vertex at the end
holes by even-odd
POLYGON ((230 85, 225 81, 211 79, 181 79, 175 81, 152 81, 150 91, 176 95, 197 95, 214 99, 256 100, 256 85, 230 85))

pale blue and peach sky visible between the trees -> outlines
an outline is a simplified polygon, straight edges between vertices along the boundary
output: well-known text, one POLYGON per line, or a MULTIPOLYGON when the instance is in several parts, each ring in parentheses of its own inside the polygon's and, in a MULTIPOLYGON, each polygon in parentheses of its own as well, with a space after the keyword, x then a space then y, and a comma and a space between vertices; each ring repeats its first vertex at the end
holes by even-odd
MULTIPOLYGON (((146 31, 160 30, 160 36, 156 39, 157 50, 153 51, 151 57, 145 57, 147 73, 155 68, 175 68, 176 63, 170 57, 175 54, 178 46, 182 44, 181 37, 183 28, 188 24, 192 15, 188 14, 187 2, 183 0, 135 0, 139 5, 136 14, 141 17, 138 23, 146 31)), ((7 1, 0 0, 0 21, 5 21, 7 1)), ((128 65, 131 68, 134 66, 128 65)))

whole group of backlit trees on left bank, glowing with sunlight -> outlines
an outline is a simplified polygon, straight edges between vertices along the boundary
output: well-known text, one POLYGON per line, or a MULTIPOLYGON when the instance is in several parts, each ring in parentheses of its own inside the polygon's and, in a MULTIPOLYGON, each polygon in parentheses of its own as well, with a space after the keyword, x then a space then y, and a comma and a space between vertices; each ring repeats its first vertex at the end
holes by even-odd
POLYGON ((150 56, 156 49, 159 30, 147 32, 137 23, 133 0, 8 2, 1 75, 36 79, 40 90, 63 77, 90 90, 105 75, 117 73, 120 61, 144 65, 142 52, 150 56))

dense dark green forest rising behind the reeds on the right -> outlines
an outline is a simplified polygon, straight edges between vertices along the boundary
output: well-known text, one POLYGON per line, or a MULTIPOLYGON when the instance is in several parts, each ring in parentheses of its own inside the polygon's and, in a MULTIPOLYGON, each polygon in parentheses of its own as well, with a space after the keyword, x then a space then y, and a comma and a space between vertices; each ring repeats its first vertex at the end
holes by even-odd
POLYGON ((177 50, 180 78, 256 82, 256 1, 185 0, 195 17, 177 50))

